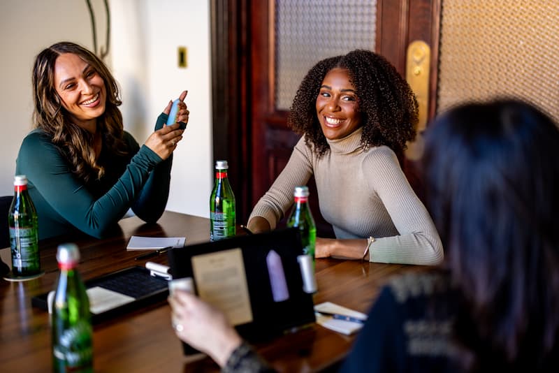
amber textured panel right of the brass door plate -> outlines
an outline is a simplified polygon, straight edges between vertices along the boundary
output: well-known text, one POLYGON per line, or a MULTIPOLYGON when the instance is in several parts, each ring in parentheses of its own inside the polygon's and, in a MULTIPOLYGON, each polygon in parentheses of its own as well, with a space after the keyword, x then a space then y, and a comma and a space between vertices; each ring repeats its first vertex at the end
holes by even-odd
POLYGON ((559 1, 442 0, 437 111, 517 96, 559 120, 559 1))

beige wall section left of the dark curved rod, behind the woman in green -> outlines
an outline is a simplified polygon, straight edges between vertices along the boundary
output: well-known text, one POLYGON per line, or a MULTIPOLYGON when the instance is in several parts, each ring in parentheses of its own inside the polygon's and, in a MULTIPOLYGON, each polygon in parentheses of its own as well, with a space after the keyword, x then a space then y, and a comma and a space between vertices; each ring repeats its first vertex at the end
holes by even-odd
POLYGON ((92 48, 85 1, 0 1, 0 195, 13 194, 15 158, 31 130, 34 57, 61 40, 92 48))

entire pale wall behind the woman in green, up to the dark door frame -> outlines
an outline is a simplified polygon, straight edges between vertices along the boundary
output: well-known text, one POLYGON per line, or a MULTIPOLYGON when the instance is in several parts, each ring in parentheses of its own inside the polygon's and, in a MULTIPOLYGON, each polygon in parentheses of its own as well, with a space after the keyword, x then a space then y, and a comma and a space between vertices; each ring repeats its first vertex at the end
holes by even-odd
MULTIPOLYGON (((102 0, 93 0, 98 47, 105 44, 102 0)), ((108 62, 121 86, 124 128, 142 144, 169 100, 187 89, 191 112, 175 150, 167 209, 208 217, 212 188, 210 6, 203 0, 111 0, 108 62), (177 47, 188 67, 177 68, 177 47)), ((15 158, 31 129, 31 68, 44 47, 75 41, 92 48, 85 0, 1 0, 0 195, 13 193, 15 158)))

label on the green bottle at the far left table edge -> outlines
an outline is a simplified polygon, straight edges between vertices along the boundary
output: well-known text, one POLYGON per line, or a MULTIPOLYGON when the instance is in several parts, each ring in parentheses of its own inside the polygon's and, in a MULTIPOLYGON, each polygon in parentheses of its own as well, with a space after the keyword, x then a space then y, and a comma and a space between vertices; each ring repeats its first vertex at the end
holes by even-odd
POLYGON ((41 272, 36 229, 10 226, 10 240, 14 273, 32 275, 41 272))

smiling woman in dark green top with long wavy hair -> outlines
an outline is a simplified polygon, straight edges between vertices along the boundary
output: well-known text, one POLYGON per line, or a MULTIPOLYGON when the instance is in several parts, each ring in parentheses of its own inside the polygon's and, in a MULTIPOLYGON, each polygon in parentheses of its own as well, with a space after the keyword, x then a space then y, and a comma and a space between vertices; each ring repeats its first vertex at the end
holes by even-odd
POLYGON ((41 51, 34 62, 34 126, 24 138, 16 175, 27 175, 39 238, 72 232, 103 237, 131 208, 147 222, 163 214, 173 151, 188 122, 180 95, 177 123, 168 103, 141 147, 124 131, 119 89, 107 66, 75 43, 41 51))

